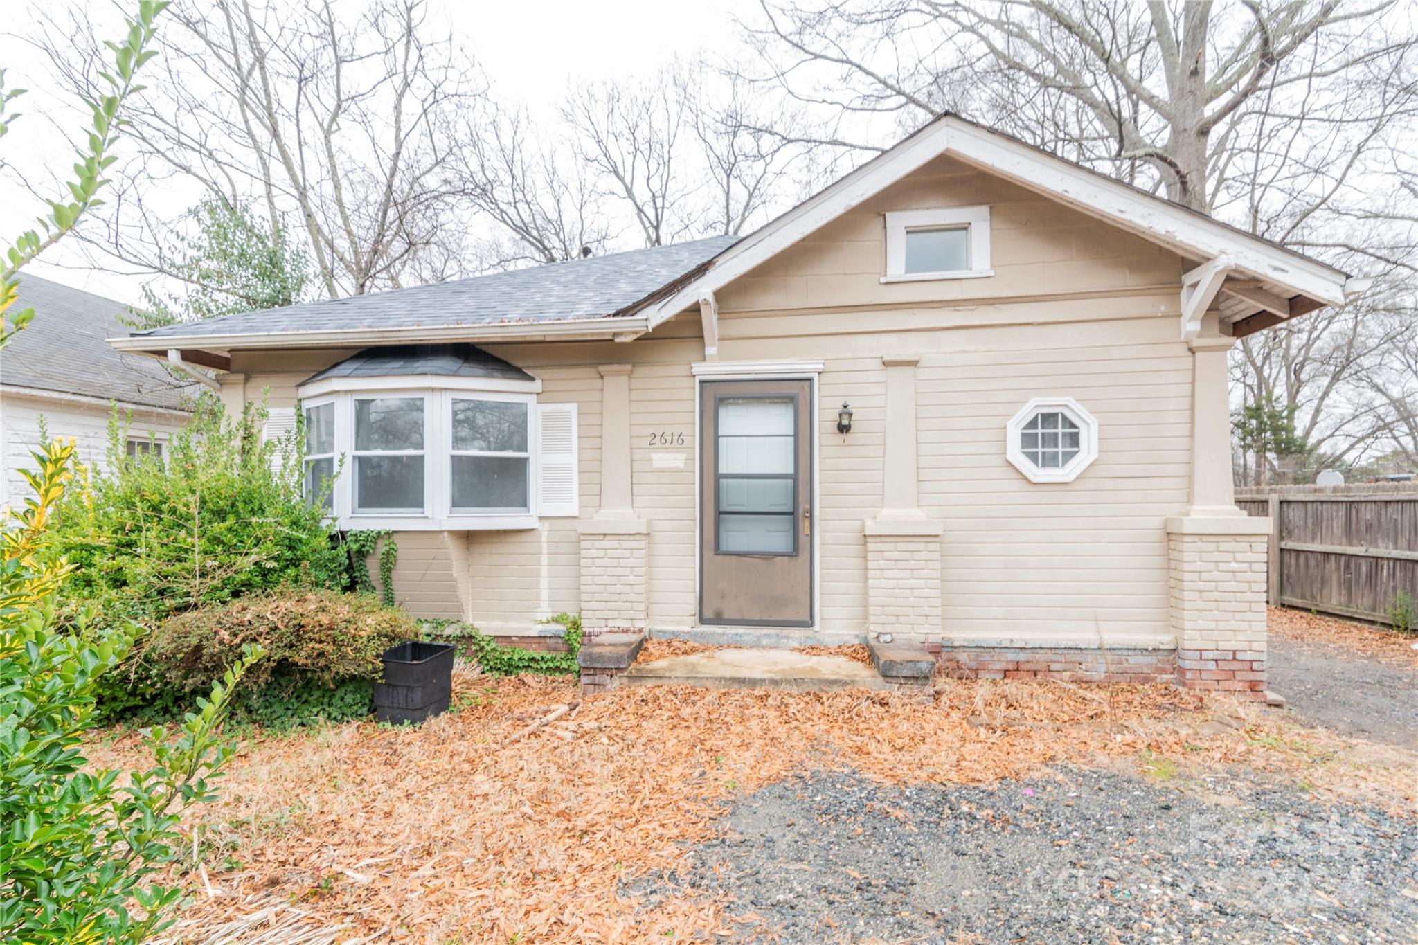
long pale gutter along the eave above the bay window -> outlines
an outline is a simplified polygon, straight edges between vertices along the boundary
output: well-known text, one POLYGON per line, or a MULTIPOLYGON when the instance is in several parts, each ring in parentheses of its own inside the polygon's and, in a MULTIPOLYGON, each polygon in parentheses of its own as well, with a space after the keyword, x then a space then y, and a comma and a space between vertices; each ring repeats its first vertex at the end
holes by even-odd
POLYGON ((118 351, 160 354, 182 349, 308 349, 377 347, 380 344, 437 344, 452 341, 556 341, 581 339, 624 340, 649 330, 645 316, 556 322, 499 322, 495 324, 441 324, 403 329, 336 329, 325 332, 265 332, 233 334, 126 334, 108 339, 118 351))

